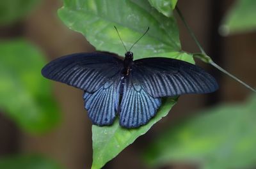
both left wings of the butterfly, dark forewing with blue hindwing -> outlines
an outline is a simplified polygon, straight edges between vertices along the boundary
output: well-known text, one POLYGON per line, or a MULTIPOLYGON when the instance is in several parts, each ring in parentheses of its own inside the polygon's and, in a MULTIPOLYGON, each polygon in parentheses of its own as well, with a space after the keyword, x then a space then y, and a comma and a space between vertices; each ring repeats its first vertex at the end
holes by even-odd
POLYGON ((80 53, 50 62, 42 75, 83 89, 88 117, 93 124, 104 126, 115 119, 122 66, 123 61, 112 54, 80 53))

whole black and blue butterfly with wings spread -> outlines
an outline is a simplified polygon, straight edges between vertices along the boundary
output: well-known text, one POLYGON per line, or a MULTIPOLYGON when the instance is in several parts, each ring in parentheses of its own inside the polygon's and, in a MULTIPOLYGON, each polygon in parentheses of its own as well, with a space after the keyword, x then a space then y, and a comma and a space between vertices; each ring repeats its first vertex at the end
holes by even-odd
POLYGON ((156 115, 163 97, 218 89, 199 66, 166 57, 133 61, 130 50, 124 59, 107 52, 66 55, 44 66, 42 75, 82 89, 84 108, 98 126, 109 126, 119 116, 120 126, 138 128, 156 115))

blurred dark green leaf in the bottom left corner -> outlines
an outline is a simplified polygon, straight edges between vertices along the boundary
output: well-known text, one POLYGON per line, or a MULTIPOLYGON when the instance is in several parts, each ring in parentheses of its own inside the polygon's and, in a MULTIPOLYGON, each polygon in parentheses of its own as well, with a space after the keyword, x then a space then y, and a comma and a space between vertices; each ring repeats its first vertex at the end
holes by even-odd
POLYGON ((3 169, 61 169, 60 165, 48 158, 38 155, 9 156, 0 158, 0 168, 3 169))

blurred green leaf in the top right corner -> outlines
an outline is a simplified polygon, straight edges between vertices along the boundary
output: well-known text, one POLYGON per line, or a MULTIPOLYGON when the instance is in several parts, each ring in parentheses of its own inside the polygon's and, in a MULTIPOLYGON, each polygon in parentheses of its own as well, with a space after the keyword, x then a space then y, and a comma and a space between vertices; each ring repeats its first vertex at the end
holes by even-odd
POLYGON ((256 1, 237 0, 223 20, 223 35, 256 31, 256 1))

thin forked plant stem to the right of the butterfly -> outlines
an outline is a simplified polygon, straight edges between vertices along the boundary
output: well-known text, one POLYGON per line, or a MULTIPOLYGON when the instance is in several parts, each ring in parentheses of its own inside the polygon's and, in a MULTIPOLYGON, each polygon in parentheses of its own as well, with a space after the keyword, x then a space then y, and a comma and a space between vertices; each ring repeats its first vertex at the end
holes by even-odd
POLYGON ((199 41, 196 39, 195 34, 193 33, 193 31, 191 30, 191 28, 188 26, 185 18, 183 17, 181 11, 179 10, 178 6, 176 6, 176 11, 179 14, 180 19, 182 20, 184 26, 186 27, 186 29, 188 29, 188 32, 190 34, 190 36, 193 38, 193 40, 195 41, 196 45, 198 46, 198 48, 200 49, 201 53, 197 53, 197 54, 193 54, 193 56, 197 57, 198 59, 200 59, 203 62, 209 63, 212 66, 214 66, 214 68, 222 71, 223 73, 225 73, 226 75, 228 75, 229 77, 233 78, 234 80, 236 80, 237 82, 239 82, 240 84, 243 84, 244 87, 252 90, 253 92, 256 92, 255 89, 253 89, 252 87, 250 87, 250 85, 244 83, 242 80, 240 80, 239 78, 235 77, 234 75, 232 75, 231 73, 228 73, 228 71, 224 70, 223 68, 221 68, 221 66, 219 66, 218 64, 216 64, 214 61, 212 61, 211 57, 209 57, 209 55, 207 55, 204 51, 204 48, 202 48, 202 46, 200 45, 199 41))

